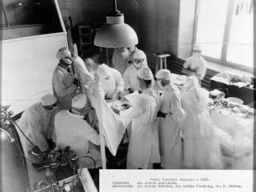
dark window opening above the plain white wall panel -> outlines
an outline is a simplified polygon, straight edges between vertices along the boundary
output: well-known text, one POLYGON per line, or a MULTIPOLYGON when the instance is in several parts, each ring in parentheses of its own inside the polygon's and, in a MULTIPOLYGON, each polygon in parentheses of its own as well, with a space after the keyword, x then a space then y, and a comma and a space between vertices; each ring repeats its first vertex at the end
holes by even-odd
POLYGON ((54 0, 0 0, 0 40, 62 32, 54 0))

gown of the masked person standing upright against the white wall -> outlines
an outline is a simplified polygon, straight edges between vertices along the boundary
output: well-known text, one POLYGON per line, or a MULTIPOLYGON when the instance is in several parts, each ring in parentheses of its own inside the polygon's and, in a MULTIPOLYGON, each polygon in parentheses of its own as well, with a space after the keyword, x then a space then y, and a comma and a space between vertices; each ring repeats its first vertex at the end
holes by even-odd
POLYGON ((73 81, 74 76, 71 71, 69 72, 59 65, 55 68, 52 86, 54 96, 58 100, 59 110, 71 107, 72 97, 76 94, 76 85, 73 84, 73 81))

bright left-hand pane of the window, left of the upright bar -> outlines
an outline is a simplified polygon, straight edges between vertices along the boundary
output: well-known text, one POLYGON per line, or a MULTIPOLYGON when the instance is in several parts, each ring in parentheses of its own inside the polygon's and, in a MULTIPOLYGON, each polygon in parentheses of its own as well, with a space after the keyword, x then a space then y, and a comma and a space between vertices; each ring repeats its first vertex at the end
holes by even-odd
POLYGON ((221 59, 228 0, 202 0, 199 8, 196 42, 202 54, 221 59))

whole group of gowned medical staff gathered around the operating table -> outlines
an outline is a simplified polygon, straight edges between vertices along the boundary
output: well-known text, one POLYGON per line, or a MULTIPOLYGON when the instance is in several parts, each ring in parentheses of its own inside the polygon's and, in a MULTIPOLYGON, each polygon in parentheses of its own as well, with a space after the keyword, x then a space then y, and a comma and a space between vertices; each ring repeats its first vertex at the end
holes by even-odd
MULTIPOLYGON (((100 63, 99 53, 82 60, 65 47, 58 50, 57 58, 53 95, 43 96, 19 121, 28 137, 20 140, 31 161, 42 161, 33 153, 35 146, 43 152, 69 146, 80 157, 94 158, 96 168, 102 166, 99 120, 90 101, 91 92, 97 92, 103 100, 134 96, 127 110, 113 108, 120 118, 132 120, 127 168, 153 168, 155 163, 167 169, 222 168, 221 145, 207 108, 208 92, 200 86, 206 74, 200 55, 184 63, 187 80, 182 89, 173 84, 167 69, 154 77, 146 54, 135 46, 114 50, 113 67, 100 63)), ((94 166, 87 158, 80 165, 94 166)))

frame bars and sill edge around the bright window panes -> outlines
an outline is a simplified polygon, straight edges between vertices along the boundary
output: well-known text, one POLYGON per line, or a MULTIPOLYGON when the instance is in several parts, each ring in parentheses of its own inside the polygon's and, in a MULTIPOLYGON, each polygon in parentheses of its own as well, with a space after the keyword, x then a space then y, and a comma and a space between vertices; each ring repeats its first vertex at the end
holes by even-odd
MULTIPOLYGON (((196 0, 195 4, 195 24, 194 24, 194 35, 193 35, 193 43, 196 43, 197 39, 197 28, 198 28, 198 16, 199 16, 199 9, 201 2, 205 0, 196 0)), ((230 35, 230 30, 231 30, 231 24, 232 24, 232 17, 234 13, 234 7, 235 6, 235 0, 228 0, 228 9, 227 9, 227 16, 225 19, 225 25, 224 25, 224 35, 223 35, 223 40, 222 40, 222 48, 221 48, 221 59, 214 58, 212 56, 202 56, 213 63, 220 64, 225 67, 232 67, 235 69, 238 69, 239 71, 247 71, 253 74, 256 74, 256 69, 254 67, 247 67, 239 63, 232 63, 230 61, 227 61, 227 53, 228 53, 228 42, 229 40, 229 35, 230 35)), ((254 14, 254 13, 253 13, 254 14)), ((254 60, 254 58, 253 58, 254 60)))

